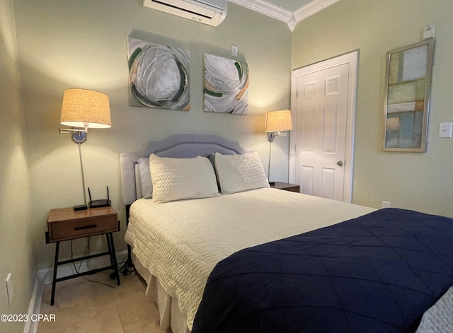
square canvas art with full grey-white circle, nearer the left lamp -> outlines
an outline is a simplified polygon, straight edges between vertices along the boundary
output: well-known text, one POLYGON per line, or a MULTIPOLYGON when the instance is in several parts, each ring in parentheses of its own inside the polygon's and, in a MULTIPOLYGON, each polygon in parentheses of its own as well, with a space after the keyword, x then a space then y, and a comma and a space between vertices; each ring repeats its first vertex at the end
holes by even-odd
POLYGON ((189 110, 188 52, 132 37, 127 42, 130 105, 189 110))

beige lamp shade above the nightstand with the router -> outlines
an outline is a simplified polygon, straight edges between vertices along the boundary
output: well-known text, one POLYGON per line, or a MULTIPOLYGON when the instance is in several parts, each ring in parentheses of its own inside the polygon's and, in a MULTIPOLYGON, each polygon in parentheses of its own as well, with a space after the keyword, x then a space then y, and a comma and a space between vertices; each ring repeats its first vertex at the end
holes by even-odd
POLYGON ((64 90, 60 123, 71 127, 112 127, 108 95, 86 89, 64 90))

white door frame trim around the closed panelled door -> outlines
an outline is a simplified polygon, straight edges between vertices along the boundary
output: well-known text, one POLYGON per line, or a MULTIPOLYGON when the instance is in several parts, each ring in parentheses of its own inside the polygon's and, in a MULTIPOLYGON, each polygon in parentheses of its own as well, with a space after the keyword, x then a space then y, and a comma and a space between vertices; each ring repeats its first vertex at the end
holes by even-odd
POLYGON ((349 64, 348 110, 346 116, 345 175, 343 181, 343 201, 352 201, 352 172, 354 168, 355 107, 357 103, 357 71, 359 51, 353 51, 316 64, 292 70, 291 116, 293 129, 289 136, 289 182, 294 184, 296 177, 297 142, 297 80, 300 76, 322 71, 331 67, 349 64))

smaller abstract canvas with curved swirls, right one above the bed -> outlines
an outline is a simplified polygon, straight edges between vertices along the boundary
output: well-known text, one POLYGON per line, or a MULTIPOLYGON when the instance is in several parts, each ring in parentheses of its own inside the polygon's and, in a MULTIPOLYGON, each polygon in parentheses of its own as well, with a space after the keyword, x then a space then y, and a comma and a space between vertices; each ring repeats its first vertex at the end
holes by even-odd
POLYGON ((248 113, 248 65, 205 54, 205 112, 248 113))

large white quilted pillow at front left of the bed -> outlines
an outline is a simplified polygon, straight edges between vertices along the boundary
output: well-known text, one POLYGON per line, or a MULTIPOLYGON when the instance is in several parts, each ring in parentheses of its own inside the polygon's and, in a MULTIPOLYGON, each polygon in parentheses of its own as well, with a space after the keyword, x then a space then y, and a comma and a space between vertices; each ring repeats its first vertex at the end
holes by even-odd
POLYGON ((153 201, 214 197, 219 194, 214 169, 205 157, 168 158, 149 156, 153 201))

